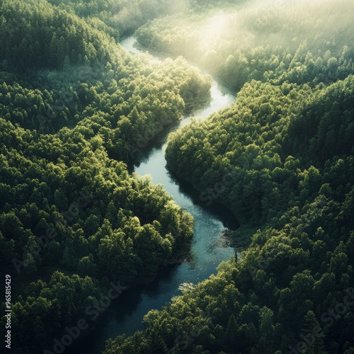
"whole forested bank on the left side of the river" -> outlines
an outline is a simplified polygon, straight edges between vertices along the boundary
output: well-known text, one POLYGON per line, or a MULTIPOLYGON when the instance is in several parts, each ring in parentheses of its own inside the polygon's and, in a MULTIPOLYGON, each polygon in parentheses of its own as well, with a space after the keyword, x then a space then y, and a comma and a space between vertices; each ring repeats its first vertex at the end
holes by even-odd
POLYGON ((190 244, 193 218, 125 163, 205 104, 210 79, 182 58, 122 50, 120 35, 156 16, 142 8, 136 24, 110 30, 108 9, 125 6, 150 4, 0 1, 0 253, 13 276, 13 353, 51 348, 91 319, 85 309, 110 283, 149 282, 190 244))

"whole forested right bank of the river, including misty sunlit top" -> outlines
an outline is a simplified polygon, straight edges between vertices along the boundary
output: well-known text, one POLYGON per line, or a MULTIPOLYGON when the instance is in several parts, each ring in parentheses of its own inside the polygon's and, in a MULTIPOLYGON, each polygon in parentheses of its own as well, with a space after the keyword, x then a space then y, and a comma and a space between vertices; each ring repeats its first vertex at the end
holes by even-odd
POLYGON ((171 134, 166 159, 242 234, 258 231, 105 354, 354 353, 353 2, 223 6, 156 19, 137 38, 239 91, 171 134))

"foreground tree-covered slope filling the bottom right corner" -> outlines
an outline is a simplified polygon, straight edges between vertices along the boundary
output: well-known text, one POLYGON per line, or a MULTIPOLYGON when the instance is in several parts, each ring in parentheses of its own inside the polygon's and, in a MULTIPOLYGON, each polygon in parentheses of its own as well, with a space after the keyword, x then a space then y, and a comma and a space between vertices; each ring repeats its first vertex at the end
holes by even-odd
POLYGON ((104 353, 139 353, 142 348, 287 353, 304 338, 312 343, 308 353, 350 348, 353 308, 329 314, 343 304, 354 281, 353 217, 341 216, 348 206, 337 200, 351 193, 328 197, 318 192, 313 202, 288 210, 280 227, 253 236, 237 263, 222 263, 217 276, 173 298, 161 312, 149 312, 144 331, 108 341, 104 353), (188 336, 205 314, 211 316, 205 332, 188 336))

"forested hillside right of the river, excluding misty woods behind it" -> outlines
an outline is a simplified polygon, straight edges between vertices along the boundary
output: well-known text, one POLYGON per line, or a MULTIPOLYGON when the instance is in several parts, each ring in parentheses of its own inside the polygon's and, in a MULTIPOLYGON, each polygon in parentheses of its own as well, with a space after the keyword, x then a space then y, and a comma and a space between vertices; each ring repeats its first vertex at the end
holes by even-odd
POLYGON ((169 166, 201 200, 261 229, 241 259, 105 353, 353 353, 353 76, 320 87, 252 81, 233 108, 171 137, 169 166))

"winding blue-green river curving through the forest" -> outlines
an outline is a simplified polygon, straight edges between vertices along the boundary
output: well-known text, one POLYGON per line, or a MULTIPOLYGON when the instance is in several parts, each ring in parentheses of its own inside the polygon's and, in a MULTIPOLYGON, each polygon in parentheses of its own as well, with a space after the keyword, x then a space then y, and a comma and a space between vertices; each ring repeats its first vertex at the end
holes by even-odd
MULTIPOLYGON (((134 46, 134 42, 135 38, 131 36, 122 40, 121 45, 125 50, 139 54, 141 51, 134 46)), ((235 101, 234 94, 215 80, 212 81, 211 96, 210 105, 194 112, 193 116, 206 118, 235 101)), ((215 202, 210 207, 205 207, 199 198, 200 193, 188 183, 177 181, 166 169, 164 150, 167 135, 190 122, 190 118, 185 117, 178 126, 171 127, 156 137, 143 156, 138 156, 138 161, 135 161, 130 170, 141 176, 152 176, 153 183, 164 185, 164 189, 173 196, 177 204, 193 215, 195 232, 191 257, 181 264, 162 270, 151 284, 122 292, 99 321, 96 330, 89 337, 73 343, 67 353, 98 354, 104 349, 108 338, 115 338, 123 333, 129 336, 143 329, 142 318, 149 310, 161 309, 172 297, 180 295, 183 287, 196 284, 216 273, 217 265, 234 254, 234 248, 229 246, 222 233, 225 228, 238 227, 231 212, 215 202)))

